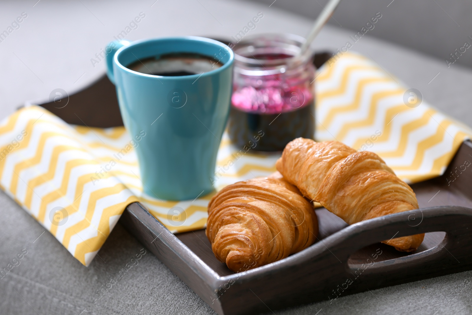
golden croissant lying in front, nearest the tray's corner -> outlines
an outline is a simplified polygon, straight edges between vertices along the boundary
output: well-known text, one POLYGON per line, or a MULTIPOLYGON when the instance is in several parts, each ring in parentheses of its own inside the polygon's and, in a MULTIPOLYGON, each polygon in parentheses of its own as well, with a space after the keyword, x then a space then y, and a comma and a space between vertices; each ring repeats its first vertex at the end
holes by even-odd
POLYGON ((276 172, 229 185, 213 196, 206 235, 215 256, 239 272, 312 245, 318 220, 312 204, 276 172))

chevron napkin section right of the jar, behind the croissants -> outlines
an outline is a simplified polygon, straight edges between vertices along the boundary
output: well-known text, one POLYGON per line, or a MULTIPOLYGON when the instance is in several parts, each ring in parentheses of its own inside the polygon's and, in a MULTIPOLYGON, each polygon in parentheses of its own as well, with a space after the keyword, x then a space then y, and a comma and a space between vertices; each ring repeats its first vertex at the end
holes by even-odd
POLYGON ((316 139, 373 151, 407 183, 442 175, 472 130, 417 92, 361 55, 335 56, 316 79, 316 139))

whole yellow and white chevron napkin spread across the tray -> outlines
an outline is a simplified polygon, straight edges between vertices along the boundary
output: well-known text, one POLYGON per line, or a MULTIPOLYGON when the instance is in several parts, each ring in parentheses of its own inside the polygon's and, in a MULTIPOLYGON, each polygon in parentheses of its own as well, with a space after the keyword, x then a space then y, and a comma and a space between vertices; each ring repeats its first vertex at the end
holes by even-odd
MULTIPOLYGON (((316 82, 316 139, 379 153, 408 182, 442 174, 472 131, 425 102, 406 106, 405 91, 360 55, 330 60, 316 82)), ((257 153, 257 142, 236 148, 226 134, 221 142, 217 190, 275 171, 280 153, 257 153)), ((211 195, 143 195, 136 145, 123 127, 71 126, 42 107, 23 108, 0 123, 0 186, 84 265, 135 201, 174 233, 204 228, 211 195)))

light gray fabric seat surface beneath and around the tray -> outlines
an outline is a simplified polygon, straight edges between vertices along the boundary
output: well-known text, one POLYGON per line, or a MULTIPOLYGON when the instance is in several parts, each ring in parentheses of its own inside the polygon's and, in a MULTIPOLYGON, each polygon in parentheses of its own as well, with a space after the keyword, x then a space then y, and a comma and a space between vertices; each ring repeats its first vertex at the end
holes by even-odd
MULTIPOLYGON (((243 1, 36 1, 0 4, 0 28, 22 12, 28 14, 20 28, 0 43, 0 119, 26 101, 47 100, 53 89, 72 94, 100 77, 104 62, 93 67, 90 59, 140 12, 146 17, 126 39, 188 34, 229 37, 257 12, 264 17, 250 31, 254 34, 306 35, 312 23, 243 1)), ((388 13, 387 8, 382 14, 388 13)), ((335 50, 356 32, 327 26, 313 47, 335 50)), ((369 36, 355 43, 353 50, 370 55, 407 87, 420 90, 432 105, 472 125, 470 69, 447 68, 444 60, 369 36)), ((93 296, 101 285, 143 248, 120 224, 88 268, 3 192, 0 227, 1 269, 22 249, 28 251, 21 264, 0 279, 0 314, 214 314, 149 252, 94 304, 93 296)), ((471 314, 472 295, 466 288, 470 281, 472 272, 462 272, 346 296, 332 304, 326 301, 275 310, 274 314, 471 314)))

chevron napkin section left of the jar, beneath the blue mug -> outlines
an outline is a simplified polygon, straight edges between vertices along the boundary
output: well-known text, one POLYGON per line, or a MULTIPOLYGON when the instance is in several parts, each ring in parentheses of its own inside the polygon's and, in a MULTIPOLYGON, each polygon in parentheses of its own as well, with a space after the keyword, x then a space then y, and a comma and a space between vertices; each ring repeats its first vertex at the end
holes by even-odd
MULTIPOLYGON (((236 149, 226 134, 221 142, 215 187, 275 171, 278 155, 236 149)), ((23 108, 0 123, 0 187, 84 265, 136 201, 173 233, 204 228, 212 194, 178 202, 143 195, 137 145, 124 127, 71 126, 42 107, 23 108)))

